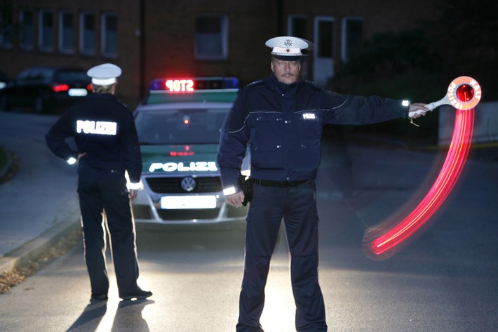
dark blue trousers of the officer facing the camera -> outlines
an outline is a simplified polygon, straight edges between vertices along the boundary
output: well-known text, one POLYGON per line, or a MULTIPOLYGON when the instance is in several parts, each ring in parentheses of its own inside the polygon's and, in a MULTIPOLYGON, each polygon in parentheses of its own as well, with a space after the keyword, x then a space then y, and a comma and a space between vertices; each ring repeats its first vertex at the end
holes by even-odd
POLYGON ((254 185, 245 232, 245 262, 236 331, 263 331, 271 255, 281 220, 290 250, 290 278, 297 331, 327 331, 325 305, 318 285, 318 213, 314 180, 290 188, 254 185))

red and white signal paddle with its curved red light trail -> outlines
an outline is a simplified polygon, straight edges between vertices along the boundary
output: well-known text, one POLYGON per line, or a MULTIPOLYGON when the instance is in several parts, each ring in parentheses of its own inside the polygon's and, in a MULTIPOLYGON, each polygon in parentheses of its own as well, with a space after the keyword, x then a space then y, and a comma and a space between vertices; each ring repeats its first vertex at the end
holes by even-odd
MULTIPOLYGON (((445 163, 426 197, 401 223, 394 225, 387 231, 383 228, 376 228, 365 234, 363 251, 369 258, 384 260, 391 257, 397 249, 406 245, 410 237, 424 229, 424 225, 436 213, 455 187, 469 154, 473 133, 474 107, 480 101, 480 97, 481 89, 475 79, 458 77, 448 86, 447 94, 443 99, 426 105, 429 110, 445 104, 457 108, 455 128, 445 163)), ((412 117, 413 114, 421 112, 425 111, 410 112, 409 116, 412 117)))

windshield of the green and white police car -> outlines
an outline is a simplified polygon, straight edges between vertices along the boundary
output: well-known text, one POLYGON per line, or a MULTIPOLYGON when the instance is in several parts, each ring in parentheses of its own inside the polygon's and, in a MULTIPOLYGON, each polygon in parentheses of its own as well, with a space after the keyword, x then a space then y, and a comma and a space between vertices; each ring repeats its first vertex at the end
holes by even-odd
POLYGON ((229 108, 149 109, 135 114, 142 145, 218 144, 229 108))

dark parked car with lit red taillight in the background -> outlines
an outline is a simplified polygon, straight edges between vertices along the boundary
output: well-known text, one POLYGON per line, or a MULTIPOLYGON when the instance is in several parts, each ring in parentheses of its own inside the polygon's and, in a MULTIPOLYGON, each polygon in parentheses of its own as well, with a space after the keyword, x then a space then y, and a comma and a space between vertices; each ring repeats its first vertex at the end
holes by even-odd
POLYGON ((0 90, 0 108, 33 107, 38 113, 59 111, 91 91, 86 70, 30 67, 0 90))

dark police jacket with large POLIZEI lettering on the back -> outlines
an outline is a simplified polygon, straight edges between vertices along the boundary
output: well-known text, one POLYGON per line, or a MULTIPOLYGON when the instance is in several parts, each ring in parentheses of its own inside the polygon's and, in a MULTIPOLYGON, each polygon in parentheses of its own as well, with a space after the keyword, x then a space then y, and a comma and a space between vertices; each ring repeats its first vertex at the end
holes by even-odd
POLYGON ((79 175, 140 181, 142 157, 133 114, 109 93, 92 93, 67 109, 45 135, 48 147, 63 159, 78 158, 79 175), (74 137, 77 151, 66 138, 74 137))

